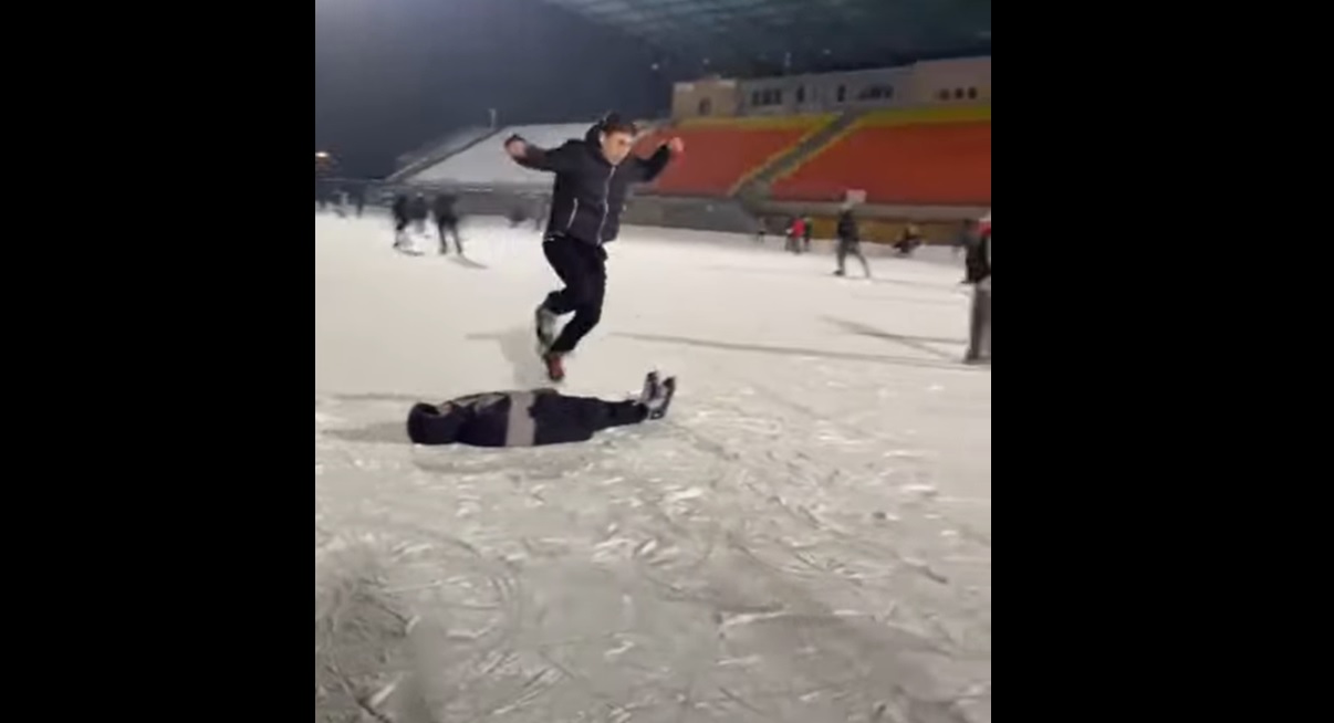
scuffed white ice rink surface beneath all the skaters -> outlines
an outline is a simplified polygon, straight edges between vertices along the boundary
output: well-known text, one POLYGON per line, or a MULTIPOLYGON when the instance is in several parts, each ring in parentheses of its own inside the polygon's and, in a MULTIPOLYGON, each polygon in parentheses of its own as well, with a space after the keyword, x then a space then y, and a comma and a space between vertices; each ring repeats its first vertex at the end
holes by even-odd
POLYGON ((471 261, 408 257, 383 217, 315 219, 316 720, 320 586, 352 552, 420 619, 435 720, 991 720, 991 371, 958 362, 960 268, 839 280, 828 255, 630 228, 563 391, 659 368, 672 415, 412 448, 416 400, 544 386, 539 236, 464 235, 471 261))

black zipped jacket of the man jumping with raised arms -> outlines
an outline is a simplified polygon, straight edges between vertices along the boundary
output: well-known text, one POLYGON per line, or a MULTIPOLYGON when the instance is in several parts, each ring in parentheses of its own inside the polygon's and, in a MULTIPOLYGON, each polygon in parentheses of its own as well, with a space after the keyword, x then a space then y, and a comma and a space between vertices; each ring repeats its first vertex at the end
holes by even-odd
MULTIPOLYGON (((547 233, 562 233, 587 244, 602 245, 620 233, 620 213, 626 209, 630 187, 652 183, 671 163, 666 145, 652 157, 631 155, 612 165, 602 155, 594 132, 584 140, 571 140, 555 149, 528 147, 519 165, 556 175, 551 192, 551 216, 547 233)), ((519 136, 506 141, 523 140, 519 136)))

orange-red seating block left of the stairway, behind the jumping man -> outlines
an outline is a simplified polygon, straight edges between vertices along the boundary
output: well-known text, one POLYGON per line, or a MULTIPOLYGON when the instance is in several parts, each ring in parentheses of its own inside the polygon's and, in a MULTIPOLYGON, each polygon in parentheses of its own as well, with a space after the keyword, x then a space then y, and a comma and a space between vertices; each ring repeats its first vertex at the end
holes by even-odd
POLYGON ((803 139, 836 116, 694 120, 644 136, 636 152, 650 155, 670 136, 686 141, 686 156, 674 163, 648 192, 682 196, 728 196, 803 139))

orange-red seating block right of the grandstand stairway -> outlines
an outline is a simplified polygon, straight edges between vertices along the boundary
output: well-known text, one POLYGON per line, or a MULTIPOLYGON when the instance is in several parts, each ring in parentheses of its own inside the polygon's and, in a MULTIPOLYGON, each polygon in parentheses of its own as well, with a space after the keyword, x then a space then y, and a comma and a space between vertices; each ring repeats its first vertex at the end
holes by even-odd
POLYGON ((866 191, 870 203, 991 203, 991 107, 883 111, 774 183, 778 200, 840 200, 866 191))

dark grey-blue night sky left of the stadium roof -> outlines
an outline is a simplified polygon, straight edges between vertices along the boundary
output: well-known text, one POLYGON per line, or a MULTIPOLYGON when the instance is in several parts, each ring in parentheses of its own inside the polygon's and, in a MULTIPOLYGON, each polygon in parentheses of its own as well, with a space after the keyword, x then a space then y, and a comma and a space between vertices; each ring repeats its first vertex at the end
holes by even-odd
POLYGON ((671 83, 643 43, 538 0, 316 0, 315 148, 344 176, 466 125, 667 113, 671 83))

